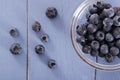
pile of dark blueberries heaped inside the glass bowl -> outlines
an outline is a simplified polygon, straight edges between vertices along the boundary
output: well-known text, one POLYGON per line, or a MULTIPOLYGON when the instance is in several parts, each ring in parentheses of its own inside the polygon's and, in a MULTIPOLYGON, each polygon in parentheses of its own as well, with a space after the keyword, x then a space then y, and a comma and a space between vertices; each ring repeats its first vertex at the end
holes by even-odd
POLYGON ((76 41, 84 53, 103 57, 108 63, 120 58, 120 10, 111 4, 93 4, 86 22, 77 26, 76 33, 76 41))

